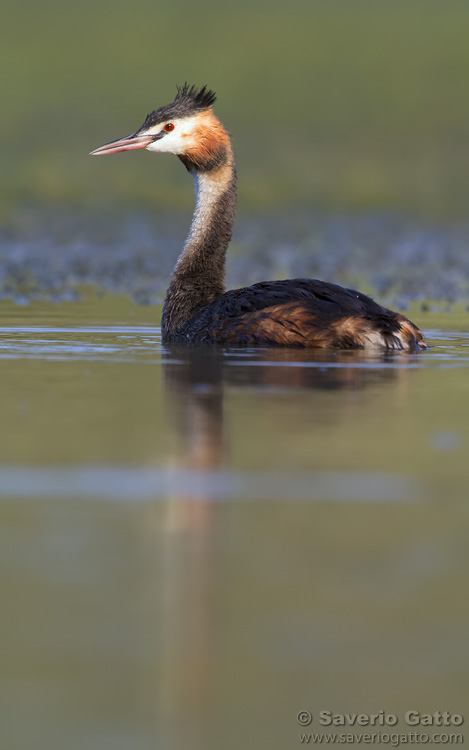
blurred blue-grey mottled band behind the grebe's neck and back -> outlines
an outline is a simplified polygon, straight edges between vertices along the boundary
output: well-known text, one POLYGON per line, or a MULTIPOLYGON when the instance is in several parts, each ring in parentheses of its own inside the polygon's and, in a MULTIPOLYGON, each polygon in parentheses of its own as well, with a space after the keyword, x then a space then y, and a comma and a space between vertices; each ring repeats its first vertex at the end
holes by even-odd
MULTIPOLYGON (((90 216, 29 211, 0 228, 0 299, 77 299, 91 286, 138 304, 162 301, 188 211, 90 216)), ((309 277, 374 295, 400 309, 469 299, 469 223, 396 214, 240 212, 228 253, 229 287, 309 277)))

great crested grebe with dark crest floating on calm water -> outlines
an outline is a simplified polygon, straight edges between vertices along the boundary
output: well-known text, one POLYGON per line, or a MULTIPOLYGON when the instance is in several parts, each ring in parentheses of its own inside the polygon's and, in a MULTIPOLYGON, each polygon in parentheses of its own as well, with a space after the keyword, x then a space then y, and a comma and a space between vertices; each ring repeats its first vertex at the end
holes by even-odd
POLYGON ((225 256, 236 211, 236 169, 230 137, 212 111, 205 86, 178 87, 132 135, 91 154, 146 148, 176 154, 192 174, 196 208, 166 293, 165 342, 232 346, 406 349, 427 345, 407 318, 370 297, 316 279, 263 281, 225 290, 225 256))

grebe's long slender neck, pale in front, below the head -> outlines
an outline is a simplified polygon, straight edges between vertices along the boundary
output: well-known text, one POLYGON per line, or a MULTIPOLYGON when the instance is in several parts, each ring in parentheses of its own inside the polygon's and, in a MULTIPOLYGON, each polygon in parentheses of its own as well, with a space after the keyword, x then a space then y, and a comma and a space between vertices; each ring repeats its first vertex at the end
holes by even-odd
POLYGON ((236 213, 231 148, 223 149, 211 169, 207 169, 211 164, 186 166, 194 177, 197 200, 189 236, 164 301, 162 332, 166 340, 178 338, 191 318, 225 291, 225 257, 236 213))

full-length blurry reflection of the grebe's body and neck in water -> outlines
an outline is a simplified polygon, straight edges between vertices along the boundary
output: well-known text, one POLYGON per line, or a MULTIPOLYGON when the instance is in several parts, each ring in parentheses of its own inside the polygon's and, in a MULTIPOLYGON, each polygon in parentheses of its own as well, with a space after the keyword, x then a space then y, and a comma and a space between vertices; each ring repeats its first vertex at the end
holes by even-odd
MULTIPOLYGON (((220 566, 221 540, 226 536, 226 504, 217 499, 230 497, 214 491, 216 481, 231 481, 230 463, 232 410, 225 414, 224 401, 272 393, 287 399, 304 419, 305 409, 320 426, 324 418, 337 420, 346 410, 362 408, 362 399, 376 387, 392 385, 405 391, 410 376, 407 363, 412 355, 365 354, 357 351, 304 349, 223 349, 171 345, 163 351, 164 388, 168 423, 174 426, 173 470, 197 477, 187 495, 176 491, 166 504, 164 592, 159 592, 164 663, 161 674, 162 702, 169 734, 190 732, 192 747, 212 746, 207 732, 213 728, 211 708, 217 703, 220 655, 223 642, 223 612, 220 587, 224 576, 220 566), (404 361, 405 360, 405 361, 404 361), (325 392, 334 391, 334 410, 320 412, 325 392), (324 416, 326 414, 326 417, 324 416), (226 422, 226 423, 225 423, 226 422), (161 606, 162 604, 162 606, 161 606), (178 720, 184 714, 184 730, 178 720)), ((398 394, 397 394, 398 397, 398 394)), ((272 414, 273 424, 276 415, 272 414)), ((247 425, 247 429, 249 429, 247 425)), ((282 425, 288 440, 288 425, 282 425)), ((281 467, 279 467, 281 469, 281 467)), ((178 483, 176 483, 177 486, 178 483)), ((249 499, 244 497, 242 499, 249 499)), ((225 559, 225 558, 223 558, 225 559)), ((223 601, 223 597, 222 597, 223 601)), ((179 737, 182 743, 187 737, 179 737)), ((166 746, 170 747, 168 738, 166 746)), ((177 747, 177 742, 174 745, 177 747)))

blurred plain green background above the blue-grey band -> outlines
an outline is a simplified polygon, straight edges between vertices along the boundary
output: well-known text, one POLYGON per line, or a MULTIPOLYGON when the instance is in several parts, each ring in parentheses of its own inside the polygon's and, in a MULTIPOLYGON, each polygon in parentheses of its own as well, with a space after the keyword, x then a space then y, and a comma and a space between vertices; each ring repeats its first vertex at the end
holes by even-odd
POLYGON ((188 80, 218 93, 244 208, 462 218, 468 28, 466 0, 4 0, 0 215, 192 205, 175 159, 87 157, 188 80))

